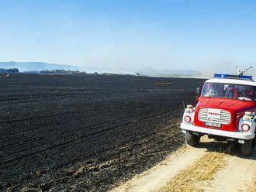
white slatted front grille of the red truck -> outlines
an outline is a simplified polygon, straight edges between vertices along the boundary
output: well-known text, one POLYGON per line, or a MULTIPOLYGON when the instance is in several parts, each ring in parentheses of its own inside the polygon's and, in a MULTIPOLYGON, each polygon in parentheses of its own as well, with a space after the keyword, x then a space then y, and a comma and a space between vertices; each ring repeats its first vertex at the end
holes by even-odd
POLYGON ((208 108, 200 108, 198 114, 199 121, 218 122, 220 124, 230 124, 231 115, 229 111, 220 110, 220 118, 208 118, 208 108))

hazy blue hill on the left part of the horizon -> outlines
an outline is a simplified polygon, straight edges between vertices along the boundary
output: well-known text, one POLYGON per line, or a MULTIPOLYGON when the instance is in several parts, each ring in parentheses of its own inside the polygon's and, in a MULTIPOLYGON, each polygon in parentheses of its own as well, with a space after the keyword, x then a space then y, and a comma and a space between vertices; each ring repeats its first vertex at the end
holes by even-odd
POLYGON ((20 72, 31 71, 31 70, 82 70, 81 67, 71 65, 60 65, 55 63, 42 63, 42 62, 0 62, 0 68, 18 68, 20 72))

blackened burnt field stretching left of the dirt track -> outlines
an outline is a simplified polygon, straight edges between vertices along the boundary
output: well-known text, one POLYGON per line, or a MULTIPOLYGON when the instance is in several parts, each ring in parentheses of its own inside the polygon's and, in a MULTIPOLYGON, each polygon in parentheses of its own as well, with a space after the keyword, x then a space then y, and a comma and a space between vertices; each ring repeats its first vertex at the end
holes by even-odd
POLYGON ((0 190, 106 191, 129 180, 182 145, 182 101, 195 104, 203 81, 1 77, 0 190))

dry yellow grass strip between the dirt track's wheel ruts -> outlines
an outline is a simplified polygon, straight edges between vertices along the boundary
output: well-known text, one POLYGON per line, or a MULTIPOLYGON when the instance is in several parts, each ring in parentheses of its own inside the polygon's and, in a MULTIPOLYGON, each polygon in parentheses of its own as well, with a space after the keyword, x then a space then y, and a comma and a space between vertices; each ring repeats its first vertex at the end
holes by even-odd
POLYGON ((209 185, 209 180, 218 170, 226 165, 224 153, 209 152, 197 159, 192 166, 180 171, 168 181, 167 186, 154 192, 200 192, 202 187, 209 185))

